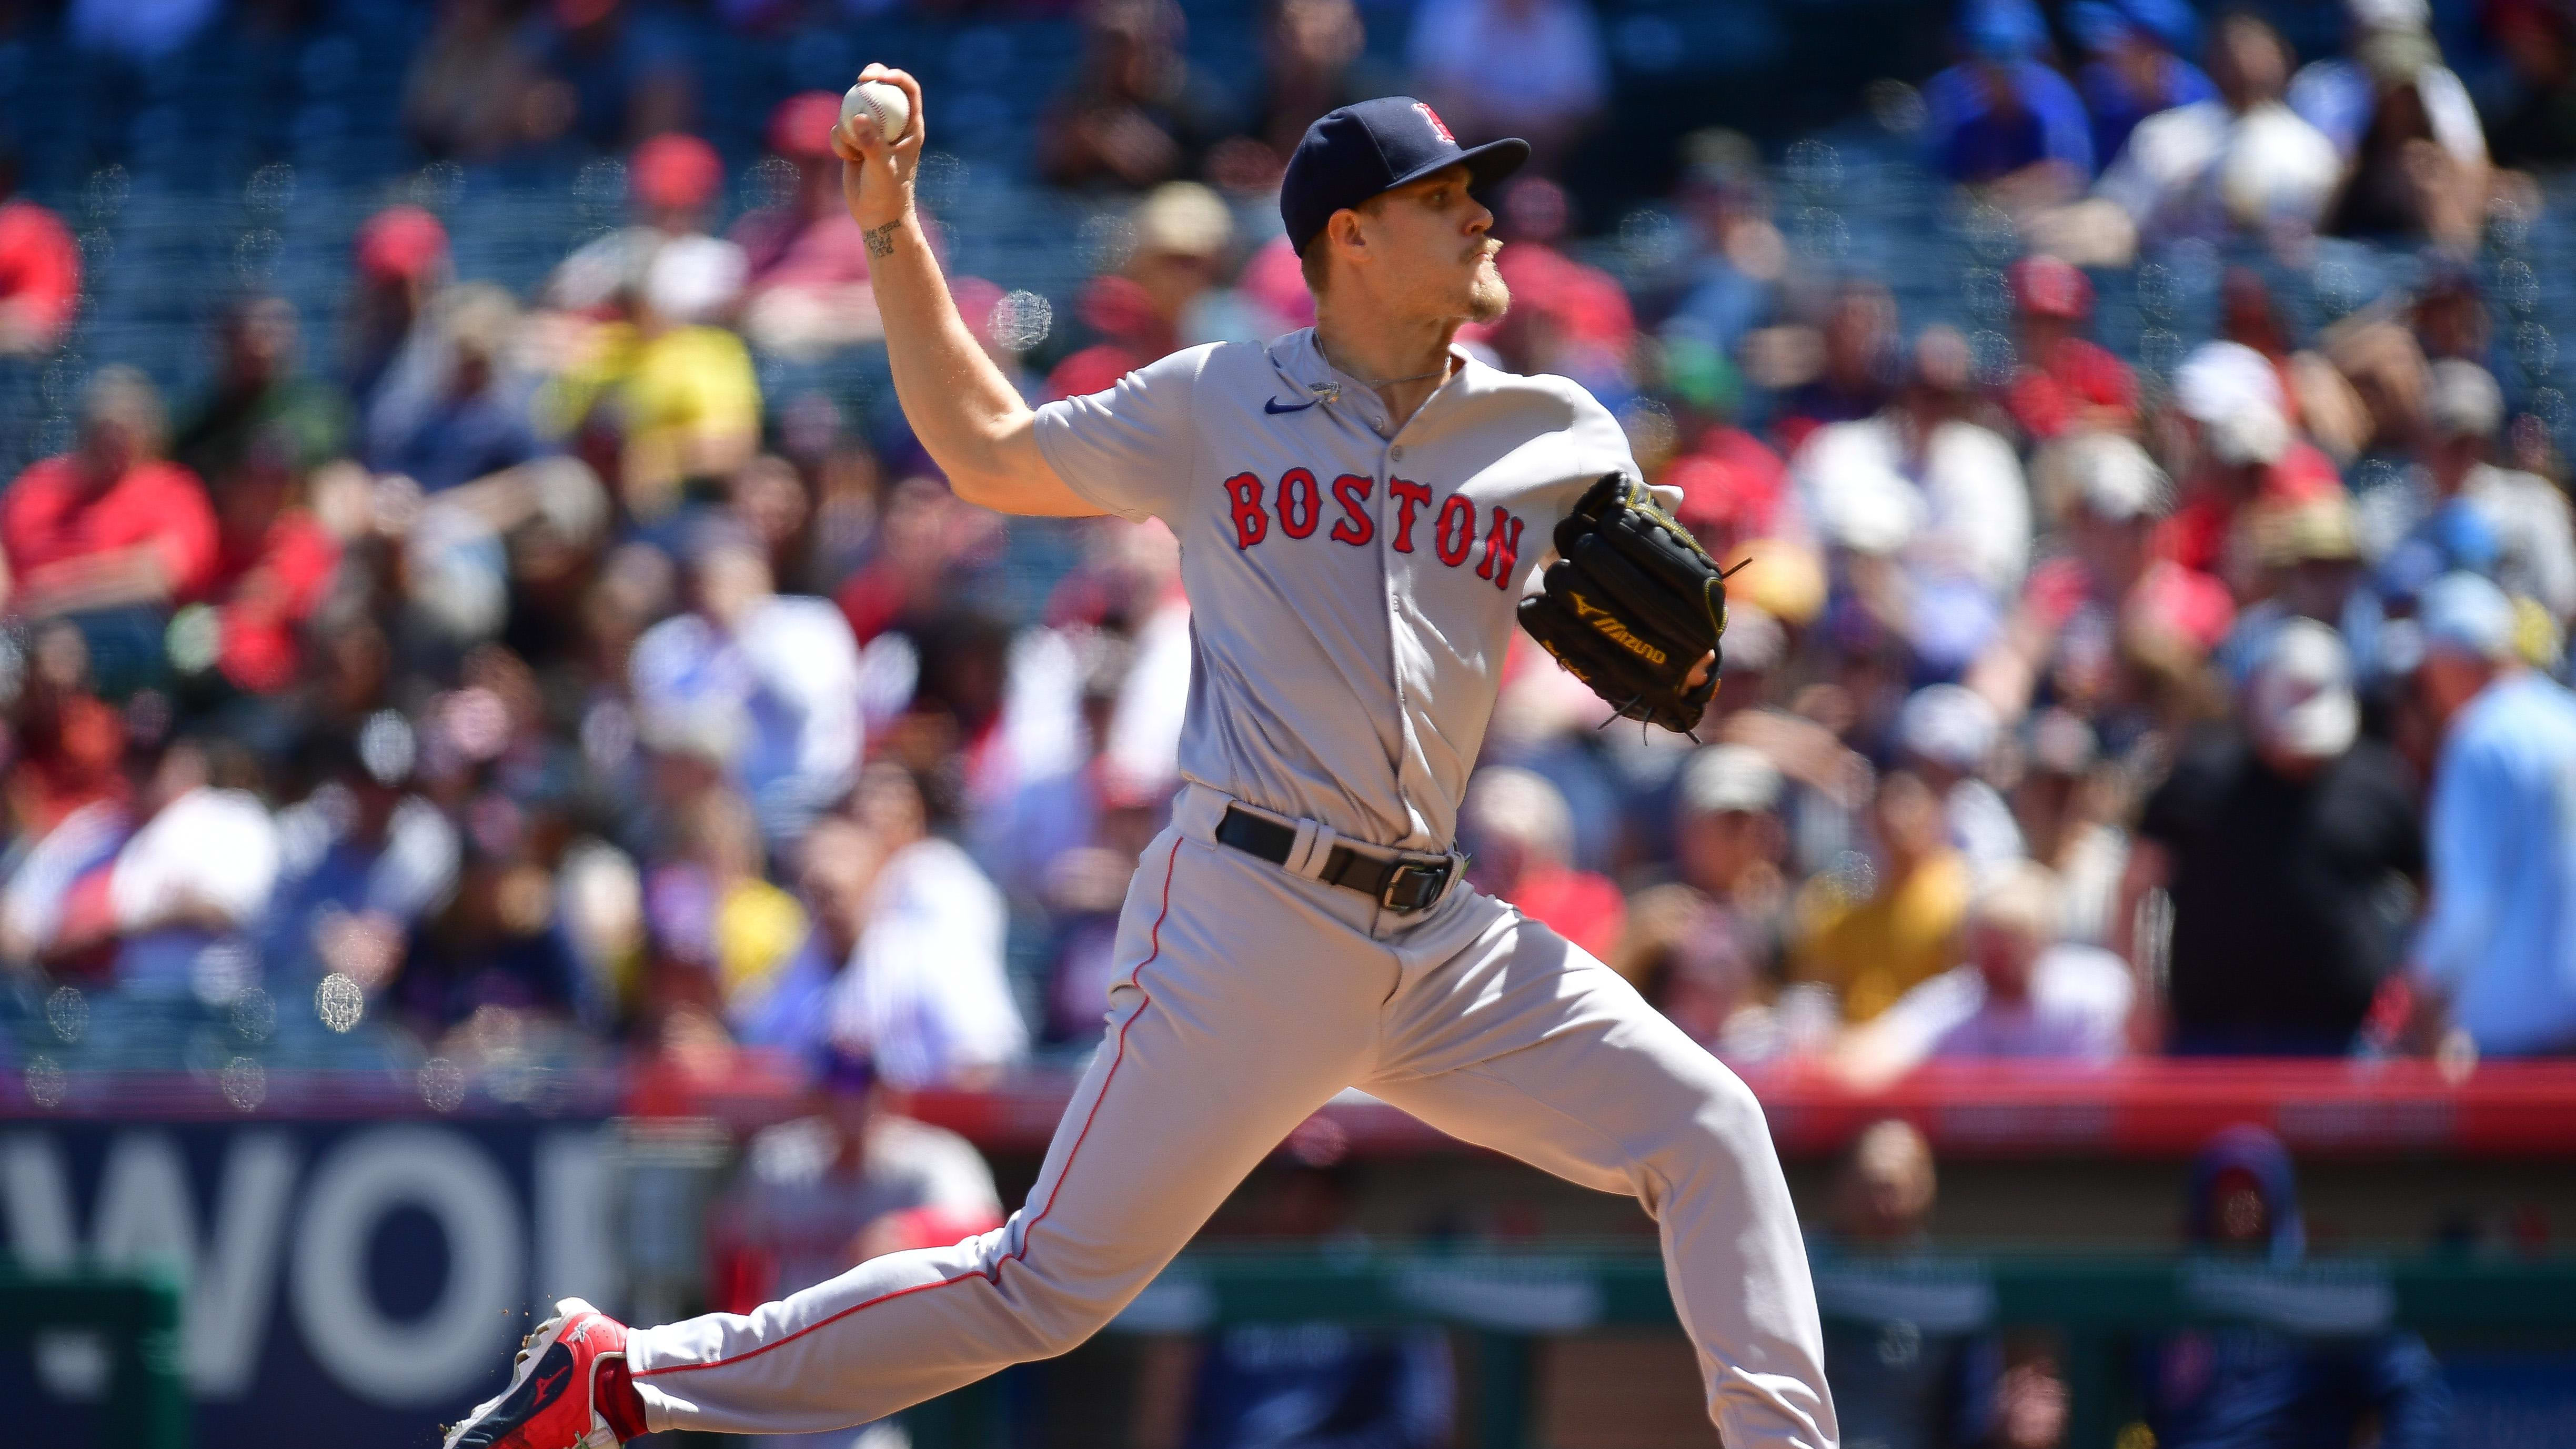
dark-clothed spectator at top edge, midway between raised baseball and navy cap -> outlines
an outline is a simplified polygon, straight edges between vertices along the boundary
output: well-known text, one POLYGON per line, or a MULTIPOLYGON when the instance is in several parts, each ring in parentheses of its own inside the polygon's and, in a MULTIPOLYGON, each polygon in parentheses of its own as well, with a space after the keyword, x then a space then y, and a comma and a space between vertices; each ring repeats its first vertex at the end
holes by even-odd
POLYGON ((1038 175, 1144 191, 1198 170, 1226 126, 1180 49, 1185 34, 1172 0, 1092 0, 1082 62, 1038 119, 1038 175))

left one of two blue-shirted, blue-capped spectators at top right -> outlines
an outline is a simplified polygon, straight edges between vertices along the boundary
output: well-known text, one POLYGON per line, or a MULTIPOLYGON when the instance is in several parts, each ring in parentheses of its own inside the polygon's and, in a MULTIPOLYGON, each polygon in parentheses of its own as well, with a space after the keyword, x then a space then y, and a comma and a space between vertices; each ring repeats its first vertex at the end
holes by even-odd
POLYGON ((2048 49, 2038 5, 1968 0, 1958 44, 1965 59, 1924 83, 1929 165, 1968 186, 2069 193, 2092 180, 2084 103, 2038 59, 2048 49))

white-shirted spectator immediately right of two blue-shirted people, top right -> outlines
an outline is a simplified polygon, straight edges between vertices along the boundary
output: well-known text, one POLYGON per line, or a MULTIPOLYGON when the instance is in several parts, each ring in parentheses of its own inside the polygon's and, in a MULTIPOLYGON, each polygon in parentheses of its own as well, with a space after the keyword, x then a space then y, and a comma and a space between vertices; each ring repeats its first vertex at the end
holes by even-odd
POLYGON ((2148 250, 2228 232, 2308 232, 2334 199, 2334 142, 2282 103, 2290 46, 2236 10, 2210 36, 2218 95, 2159 111, 2128 134, 2094 196, 2117 206, 2148 250))

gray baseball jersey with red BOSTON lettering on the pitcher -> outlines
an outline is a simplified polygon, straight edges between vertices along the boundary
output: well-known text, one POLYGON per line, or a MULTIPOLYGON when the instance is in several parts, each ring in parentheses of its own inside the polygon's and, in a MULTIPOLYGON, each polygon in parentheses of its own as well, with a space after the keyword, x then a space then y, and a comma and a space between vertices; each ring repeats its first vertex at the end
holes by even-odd
POLYGON ((1388 428, 1314 330, 1048 402, 1038 449, 1082 498, 1180 539, 1182 776, 1417 851, 1455 835, 1525 572, 1587 485, 1636 474, 1574 382, 1466 361, 1388 428))

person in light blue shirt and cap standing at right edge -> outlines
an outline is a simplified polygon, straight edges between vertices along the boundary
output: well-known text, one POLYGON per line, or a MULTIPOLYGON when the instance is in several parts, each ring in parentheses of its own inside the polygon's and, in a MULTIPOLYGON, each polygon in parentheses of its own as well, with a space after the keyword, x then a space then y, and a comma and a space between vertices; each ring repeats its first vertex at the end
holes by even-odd
POLYGON ((2576 694, 2517 657, 2517 608, 2452 572, 2424 588, 2416 694, 2442 730, 2416 1042, 2576 1052, 2576 694))

